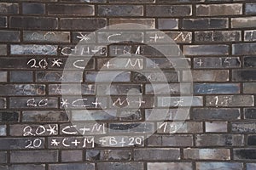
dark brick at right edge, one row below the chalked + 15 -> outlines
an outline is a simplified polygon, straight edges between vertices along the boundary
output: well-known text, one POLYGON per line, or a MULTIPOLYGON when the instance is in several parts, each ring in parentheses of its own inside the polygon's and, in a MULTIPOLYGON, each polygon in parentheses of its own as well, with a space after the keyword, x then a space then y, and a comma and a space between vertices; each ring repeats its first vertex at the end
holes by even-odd
POLYGON ((232 81, 234 82, 253 82, 256 80, 256 71, 254 70, 234 70, 232 72, 232 81))

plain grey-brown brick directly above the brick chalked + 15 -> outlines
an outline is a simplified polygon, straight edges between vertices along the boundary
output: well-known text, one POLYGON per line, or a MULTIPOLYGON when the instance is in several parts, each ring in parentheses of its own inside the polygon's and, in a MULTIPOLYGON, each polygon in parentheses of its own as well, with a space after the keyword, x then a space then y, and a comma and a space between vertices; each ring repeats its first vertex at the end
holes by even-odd
POLYGON ((185 45, 183 47, 185 55, 227 55, 229 46, 227 45, 185 45))

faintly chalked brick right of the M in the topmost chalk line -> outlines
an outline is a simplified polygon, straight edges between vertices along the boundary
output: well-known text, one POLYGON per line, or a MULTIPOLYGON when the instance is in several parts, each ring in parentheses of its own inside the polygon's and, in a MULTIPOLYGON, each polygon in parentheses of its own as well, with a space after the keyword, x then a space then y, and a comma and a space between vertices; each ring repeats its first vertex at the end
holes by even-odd
POLYGON ((241 31, 195 31, 195 42, 238 42, 241 31))

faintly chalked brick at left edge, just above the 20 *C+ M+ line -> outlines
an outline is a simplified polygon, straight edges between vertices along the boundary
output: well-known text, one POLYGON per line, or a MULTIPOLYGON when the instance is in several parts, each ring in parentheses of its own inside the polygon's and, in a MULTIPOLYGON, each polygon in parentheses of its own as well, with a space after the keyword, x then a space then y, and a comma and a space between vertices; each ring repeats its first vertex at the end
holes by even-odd
POLYGON ((7 84, 0 85, 0 95, 44 95, 45 85, 43 84, 7 84))

